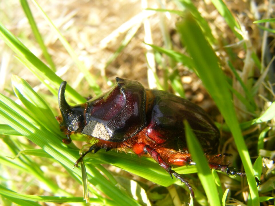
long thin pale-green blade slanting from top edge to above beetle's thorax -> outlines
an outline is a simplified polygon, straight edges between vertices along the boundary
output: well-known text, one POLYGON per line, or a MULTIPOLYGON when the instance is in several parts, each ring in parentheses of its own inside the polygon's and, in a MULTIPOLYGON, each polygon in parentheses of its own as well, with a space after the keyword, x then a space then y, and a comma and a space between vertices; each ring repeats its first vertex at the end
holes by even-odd
POLYGON ((86 66, 78 59, 78 56, 74 52, 74 49, 71 47, 69 42, 65 39, 65 37, 60 33, 60 31, 56 28, 54 23, 50 20, 48 15, 43 11, 42 7, 37 3, 37 1, 32 0, 34 5, 38 8, 40 13, 43 15, 44 19, 47 21, 47 23, 52 27, 52 32, 56 34, 58 39, 63 44, 64 48, 68 51, 71 58, 74 60, 75 64, 77 65, 77 68, 84 74, 84 77, 86 78, 88 84, 91 86, 95 94, 100 94, 101 89, 99 85, 96 83, 95 78, 91 75, 89 70, 86 68, 86 66))

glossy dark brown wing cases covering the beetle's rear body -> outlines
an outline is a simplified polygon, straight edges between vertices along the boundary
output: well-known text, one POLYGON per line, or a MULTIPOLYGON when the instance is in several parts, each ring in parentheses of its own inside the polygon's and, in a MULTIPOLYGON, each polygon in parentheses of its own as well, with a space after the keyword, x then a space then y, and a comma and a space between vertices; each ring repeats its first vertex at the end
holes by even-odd
POLYGON ((160 90, 146 90, 154 96, 147 136, 177 151, 186 150, 184 120, 190 124, 205 153, 217 152, 220 132, 207 113, 192 102, 160 90))

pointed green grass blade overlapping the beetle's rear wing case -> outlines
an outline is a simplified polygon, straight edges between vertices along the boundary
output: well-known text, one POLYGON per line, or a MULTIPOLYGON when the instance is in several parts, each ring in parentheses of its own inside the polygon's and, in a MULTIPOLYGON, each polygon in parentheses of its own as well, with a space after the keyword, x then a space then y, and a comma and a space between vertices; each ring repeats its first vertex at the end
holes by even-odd
POLYGON ((197 140, 197 137, 192 132, 190 125, 188 122, 184 122, 184 130, 186 136, 187 147, 189 149, 190 154, 192 155, 192 159, 195 163, 198 170, 198 176, 203 185, 204 191, 207 195, 208 201, 210 205, 221 205, 219 200, 217 186, 215 184, 215 180, 208 166, 208 162, 203 153, 203 149, 197 140))

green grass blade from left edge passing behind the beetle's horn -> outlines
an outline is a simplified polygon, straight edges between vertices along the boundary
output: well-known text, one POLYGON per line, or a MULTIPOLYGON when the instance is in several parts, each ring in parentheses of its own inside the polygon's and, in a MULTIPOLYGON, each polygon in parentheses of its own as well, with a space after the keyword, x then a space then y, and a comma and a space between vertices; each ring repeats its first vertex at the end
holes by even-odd
MULTIPOLYGON (((25 47, 7 28, 0 22, 0 38, 19 56, 20 59, 28 65, 30 71, 38 74, 42 78, 48 80, 55 88, 59 88, 63 81, 57 76, 48 66, 46 66, 40 59, 38 59, 30 50, 25 47)), ((43 82, 46 84, 45 82, 43 82)), ((85 102, 85 98, 80 96, 69 85, 66 87, 66 95, 76 103, 85 102)))

